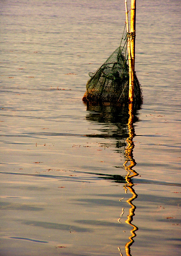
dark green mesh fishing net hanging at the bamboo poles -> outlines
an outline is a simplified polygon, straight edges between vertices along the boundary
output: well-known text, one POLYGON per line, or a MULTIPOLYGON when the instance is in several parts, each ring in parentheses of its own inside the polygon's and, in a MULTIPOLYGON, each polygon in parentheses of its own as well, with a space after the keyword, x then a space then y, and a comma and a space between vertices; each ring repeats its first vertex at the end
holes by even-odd
MULTIPOLYGON (((89 73, 83 101, 127 102, 129 99, 129 66, 125 49, 118 47, 95 72, 89 73)), ((142 102, 142 91, 135 73, 134 100, 142 102)))

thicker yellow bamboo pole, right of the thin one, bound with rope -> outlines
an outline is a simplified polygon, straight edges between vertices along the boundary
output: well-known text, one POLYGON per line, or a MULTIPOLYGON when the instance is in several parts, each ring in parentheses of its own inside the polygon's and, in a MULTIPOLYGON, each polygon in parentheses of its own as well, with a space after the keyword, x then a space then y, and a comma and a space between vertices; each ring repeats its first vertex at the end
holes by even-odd
POLYGON ((133 102, 133 99, 134 99, 135 36, 136 36, 136 0, 131 0, 131 22, 130 22, 131 86, 129 87, 129 102, 133 102))

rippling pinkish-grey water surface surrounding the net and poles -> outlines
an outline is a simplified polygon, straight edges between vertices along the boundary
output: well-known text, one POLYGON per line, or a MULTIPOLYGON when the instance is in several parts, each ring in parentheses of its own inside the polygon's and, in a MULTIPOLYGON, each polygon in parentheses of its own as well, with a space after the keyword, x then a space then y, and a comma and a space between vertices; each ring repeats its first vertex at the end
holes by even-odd
POLYGON ((0 9, 1 255, 180 255, 180 1, 137 1, 144 101, 127 193, 127 110, 81 101, 120 43, 124 1, 0 9))

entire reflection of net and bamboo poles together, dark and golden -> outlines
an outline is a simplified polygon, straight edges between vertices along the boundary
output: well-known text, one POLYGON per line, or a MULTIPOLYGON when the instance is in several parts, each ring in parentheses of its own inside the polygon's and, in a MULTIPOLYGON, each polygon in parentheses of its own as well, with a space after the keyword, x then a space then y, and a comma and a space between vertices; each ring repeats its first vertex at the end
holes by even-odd
MULTIPOLYGON (((136 206, 133 204, 133 201, 138 197, 134 190, 134 183, 132 178, 138 176, 138 173, 135 172, 132 168, 136 165, 136 162, 133 158, 133 149, 134 142, 133 138, 135 137, 135 130, 133 124, 138 121, 136 116, 136 111, 139 109, 138 106, 133 104, 129 105, 94 105, 87 103, 87 111, 89 114, 86 119, 88 121, 95 121, 96 123, 103 124, 101 128, 102 134, 100 135, 87 135, 88 137, 105 137, 115 139, 112 143, 112 146, 117 149, 118 152, 121 152, 125 156, 125 163, 123 168, 127 171, 126 176, 121 175, 106 175, 101 173, 94 173, 99 175, 102 179, 108 179, 115 183, 125 183, 124 189, 125 193, 128 191, 131 193, 130 199, 126 202, 130 205, 129 215, 125 221, 128 225, 132 227, 129 236, 129 241, 125 245, 125 251, 127 256, 131 256, 131 245, 134 243, 134 237, 136 236, 136 227, 132 224, 133 216, 135 215, 136 206), (128 112, 129 109, 129 112, 128 112), (103 134, 104 133, 104 134, 103 134)), ((120 199, 121 201, 121 199, 120 199)), ((118 221, 121 223, 122 215, 124 214, 124 208, 122 208, 122 213, 118 221)), ((121 249, 118 247, 119 253, 122 256, 121 249)))

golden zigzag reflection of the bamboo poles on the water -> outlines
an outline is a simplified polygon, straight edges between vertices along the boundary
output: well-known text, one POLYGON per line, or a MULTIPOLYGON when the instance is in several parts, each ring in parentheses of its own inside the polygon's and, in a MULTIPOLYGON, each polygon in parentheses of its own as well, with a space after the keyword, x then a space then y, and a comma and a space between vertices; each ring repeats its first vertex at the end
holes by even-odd
MULTIPOLYGON (((138 195, 136 194, 136 192, 133 188, 134 183, 132 183, 132 181, 131 181, 132 177, 135 177, 138 175, 138 173, 132 169, 136 165, 136 162, 133 158, 134 142, 132 139, 135 136, 135 131, 134 131, 134 127, 133 127, 133 119, 134 119, 133 104, 131 103, 131 104, 129 104, 129 120, 128 120, 129 137, 126 139, 128 146, 125 149, 126 161, 123 164, 125 170, 127 171, 127 175, 125 177, 126 184, 124 185, 125 193, 127 193, 127 190, 129 189, 130 193, 132 194, 132 197, 130 197, 130 199, 128 199, 126 201, 131 206, 131 208, 129 210, 129 215, 127 216, 127 220, 125 222, 128 225, 131 225, 131 227, 132 227, 132 229, 130 231, 131 236, 129 236, 129 242, 127 242, 125 245, 125 251, 126 251, 127 256, 131 256, 130 247, 134 243, 133 238, 136 236, 135 231, 138 230, 138 227, 136 227, 134 224, 132 224, 133 216, 135 215, 135 209, 136 209, 136 206, 132 203, 132 201, 134 201, 138 197, 138 195), (127 165, 127 164, 129 164, 129 165, 127 165)), ((124 213, 124 209, 122 209, 121 217, 122 217, 123 213, 124 213)), ((119 222, 120 222, 120 219, 119 219, 119 222)), ((118 247, 118 249, 119 249, 119 247, 118 247)), ((122 255, 121 252, 120 252, 120 255, 122 255)))

